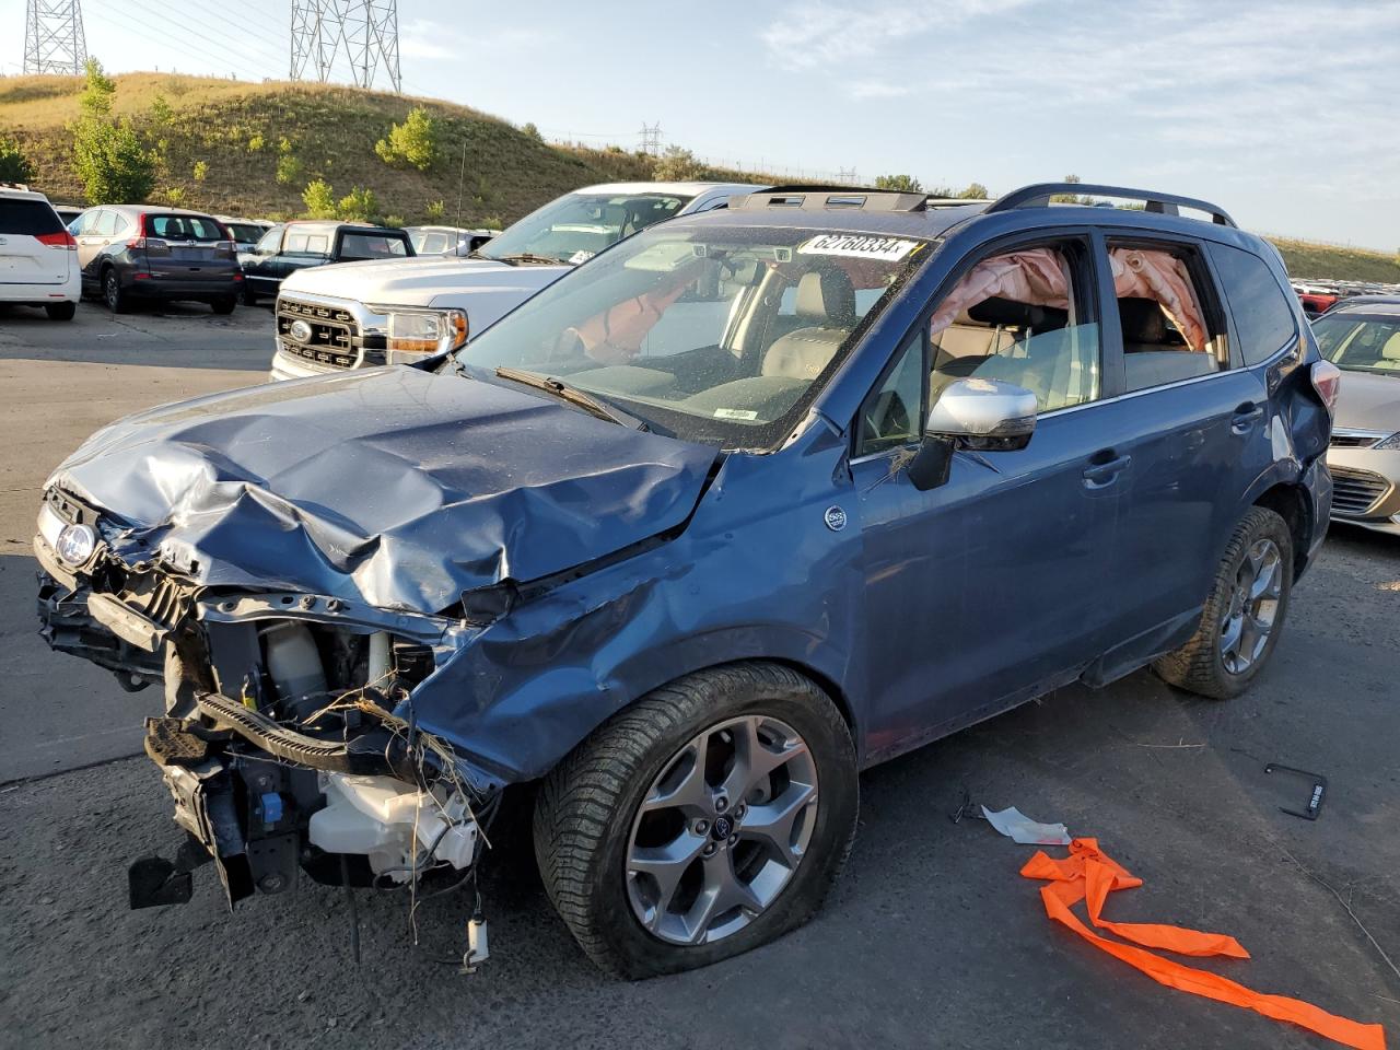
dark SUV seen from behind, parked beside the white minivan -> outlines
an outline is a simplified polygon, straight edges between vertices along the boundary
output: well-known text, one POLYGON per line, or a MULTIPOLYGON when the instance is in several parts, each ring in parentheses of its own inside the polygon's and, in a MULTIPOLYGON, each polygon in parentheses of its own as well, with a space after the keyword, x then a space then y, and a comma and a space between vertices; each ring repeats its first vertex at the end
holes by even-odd
POLYGON ((69 225, 78 242, 83 294, 113 314, 137 301, 193 300, 232 314, 244 272, 228 228, 213 216, 146 204, 102 204, 69 225))

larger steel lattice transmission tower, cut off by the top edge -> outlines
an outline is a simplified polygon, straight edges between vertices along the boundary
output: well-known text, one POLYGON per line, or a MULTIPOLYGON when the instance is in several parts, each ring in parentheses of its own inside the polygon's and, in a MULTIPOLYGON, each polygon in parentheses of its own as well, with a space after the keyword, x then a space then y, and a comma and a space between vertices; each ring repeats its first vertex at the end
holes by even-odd
POLYGON ((291 0, 291 78, 323 84, 340 59, 357 87, 384 70, 403 90, 398 0, 291 0))

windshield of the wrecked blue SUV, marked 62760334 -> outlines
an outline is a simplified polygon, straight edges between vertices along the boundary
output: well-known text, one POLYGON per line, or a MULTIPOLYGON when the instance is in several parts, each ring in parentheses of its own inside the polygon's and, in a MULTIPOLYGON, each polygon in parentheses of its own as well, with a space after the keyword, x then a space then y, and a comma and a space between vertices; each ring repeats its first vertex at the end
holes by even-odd
POLYGON ((928 242, 659 227, 550 284, 463 347, 468 374, 549 375, 652 430, 774 444, 928 242))

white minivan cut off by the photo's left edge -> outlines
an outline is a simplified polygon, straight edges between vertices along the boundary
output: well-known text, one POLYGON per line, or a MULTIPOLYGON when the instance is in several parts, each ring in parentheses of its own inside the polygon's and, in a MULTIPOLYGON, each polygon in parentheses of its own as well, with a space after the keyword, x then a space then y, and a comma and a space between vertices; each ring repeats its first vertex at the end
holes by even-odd
POLYGON ((42 193, 0 185, 0 304, 71 321, 83 293, 78 245, 42 193))

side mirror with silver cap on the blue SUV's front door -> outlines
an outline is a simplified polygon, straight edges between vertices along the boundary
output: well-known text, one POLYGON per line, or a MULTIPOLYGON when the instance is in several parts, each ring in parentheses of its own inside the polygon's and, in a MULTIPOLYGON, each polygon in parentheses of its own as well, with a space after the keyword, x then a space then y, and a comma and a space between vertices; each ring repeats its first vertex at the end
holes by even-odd
POLYGON ((1036 430, 1036 395, 1000 379, 956 379, 928 410, 924 444, 909 465, 909 480, 924 491, 948 482, 953 451, 1009 452, 1025 448, 1036 430))

